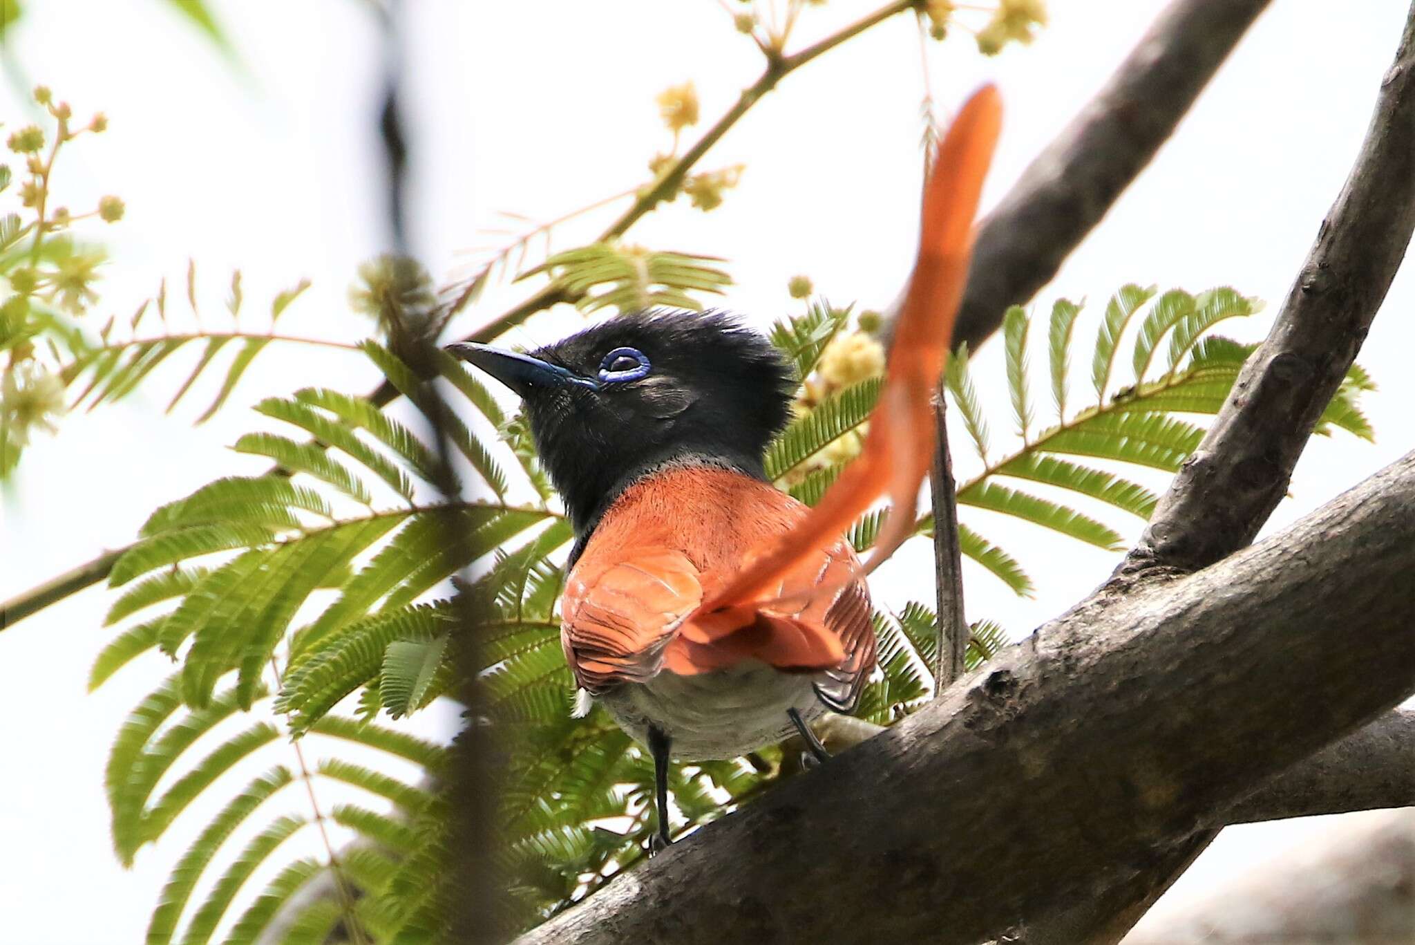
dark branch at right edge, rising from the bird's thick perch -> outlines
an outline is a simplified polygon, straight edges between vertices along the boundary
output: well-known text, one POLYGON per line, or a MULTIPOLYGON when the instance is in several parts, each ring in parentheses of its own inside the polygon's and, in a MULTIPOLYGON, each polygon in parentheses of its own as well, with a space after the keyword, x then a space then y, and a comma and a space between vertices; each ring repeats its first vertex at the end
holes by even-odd
POLYGON ((1415 7, 1361 153, 1264 346, 1174 477, 1124 571, 1193 570, 1247 545, 1286 494, 1415 228, 1415 7))

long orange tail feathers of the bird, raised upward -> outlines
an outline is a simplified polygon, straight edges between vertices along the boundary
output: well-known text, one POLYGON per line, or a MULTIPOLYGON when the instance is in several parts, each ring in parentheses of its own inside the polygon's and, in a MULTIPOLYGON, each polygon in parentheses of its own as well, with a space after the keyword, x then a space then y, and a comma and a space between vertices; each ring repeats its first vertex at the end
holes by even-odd
POLYGON ((860 456, 826 490, 801 524, 754 555, 698 613, 754 601, 814 550, 839 538, 880 494, 893 509, 869 567, 913 533, 918 487, 934 453, 931 400, 968 278, 972 221, 1002 128, 1002 99, 985 85, 964 105, 938 145, 924 184, 918 258, 894 327, 889 367, 860 456))

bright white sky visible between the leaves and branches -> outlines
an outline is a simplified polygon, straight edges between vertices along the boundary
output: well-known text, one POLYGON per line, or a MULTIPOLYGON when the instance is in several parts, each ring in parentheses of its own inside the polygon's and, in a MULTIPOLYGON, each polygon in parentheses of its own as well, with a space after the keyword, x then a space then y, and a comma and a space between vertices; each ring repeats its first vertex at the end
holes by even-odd
MULTIPOLYGON (((110 118, 110 130, 72 147, 58 176, 75 211, 105 193, 127 201, 127 218, 96 234, 115 258, 102 286, 105 317, 132 312, 163 275, 180 286, 194 256, 208 313, 222 309, 229 271, 239 266, 253 316, 275 292, 310 276, 314 288, 283 329, 345 340, 365 333, 344 300, 357 264, 385 244, 372 137, 381 52, 365 4, 214 3, 238 68, 158 0, 27 6, 27 21, 0 52, 7 65, 27 84, 51 85, 78 115, 102 109, 110 118)), ((1002 88, 1007 116, 985 204, 1071 119, 1162 7, 1051 6, 1053 26, 1030 48, 983 60, 962 40, 930 47, 941 112, 986 78, 1002 88)), ((439 278, 466 269, 467 248, 498 239, 478 232, 504 225, 497 211, 545 220, 641 181, 647 159, 668 143, 654 105, 659 89, 692 78, 712 120, 757 68, 754 48, 709 0, 405 7, 413 241, 439 278)), ((833 0, 809 10, 798 35, 872 7, 833 0)), ((1269 302, 1254 324, 1232 329, 1261 337, 1357 152, 1405 11, 1405 0, 1274 4, 1176 140, 1039 300, 1088 296, 1094 316, 1124 282, 1234 285, 1269 302)), ((703 167, 743 162, 747 171, 720 210, 703 215, 679 201, 631 238, 729 256, 737 285, 726 305, 763 323, 788 307, 785 281, 798 272, 832 300, 880 306, 897 292, 914 241, 920 96, 916 30, 899 18, 790 77, 722 142, 703 167)), ((0 85, 0 118, 11 128, 27 120, 24 98, 0 85)), ((576 245, 604 220, 566 228, 556 245, 576 245)), ((456 327, 475 326, 522 293, 488 293, 456 327)), ((1356 485, 1415 439, 1412 303, 1407 266, 1360 357, 1381 385, 1367 404, 1377 443, 1344 435, 1316 442, 1271 527, 1356 485)), ((545 341, 573 324, 573 316, 549 316, 514 339, 545 341)), ((1077 337, 1088 344, 1092 332, 1094 322, 1084 322, 1077 337)), ((992 349, 978 375, 1002 445, 1010 421, 992 349)), ((1073 358, 1077 375, 1085 350, 1073 358)), ((0 499, 0 598, 127 543, 153 507, 218 475, 259 472, 225 449, 256 425, 245 405, 296 385, 362 391, 376 380, 358 357, 272 350, 231 405, 192 429, 202 391, 174 417, 160 414, 178 375, 164 368, 147 395, 68 418, 58 438, 25 455, 0 499)), ((1044 391, 1037 397, 1049 405, 1044 391)), ((966 475, 968 458, 959 463, 966 475)), ((1135 536, 1133 523, 1099 516, 1135 536)), ((1019 635, 1104 579, 1115 561, 1032 527, 985 514, 968 520, 1022 558, 1039 585, 1036 598, 1022 601, 981 571, 966 574, 969 616, 992 616, 1019 635)), ((882 574, 876 595, 928 601, 928 575, 927 550, 917 548, 882 574)), ((167 870, 209 816, 188 812, 134 870, 112 856, 102 795, 108 745, 163 667, 154 657, 146 670, 125 670, 85 694, 92 657, 112 636, 100 628, 108 602, 103 591, 85 592, 0 639, 0 944, 137 941, 167 870)), ((420 727, 447 724, 446 714, 432 714, 420 727)), ((293 793, 284 803, 299 809, 293 793)), ((1170 900, 1182 905, 1336 823, 1227 830, 1170 900)))

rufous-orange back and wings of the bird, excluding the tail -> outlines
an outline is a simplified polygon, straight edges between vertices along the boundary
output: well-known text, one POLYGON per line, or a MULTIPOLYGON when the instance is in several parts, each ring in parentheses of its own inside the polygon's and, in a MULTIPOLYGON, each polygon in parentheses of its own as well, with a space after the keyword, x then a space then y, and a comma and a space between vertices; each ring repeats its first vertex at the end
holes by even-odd
POLYGON ((804 516, 770 485, 720 469, 668 470, 625 492, 566 582, 560 642, 576 681, 600 693, 665 669, 691 676, 758 659, 824 673, 822 698, 852 706, 874 667, 874 632, 845 540, 797 562, 763 606, 688 619, 747 547, 804 516))

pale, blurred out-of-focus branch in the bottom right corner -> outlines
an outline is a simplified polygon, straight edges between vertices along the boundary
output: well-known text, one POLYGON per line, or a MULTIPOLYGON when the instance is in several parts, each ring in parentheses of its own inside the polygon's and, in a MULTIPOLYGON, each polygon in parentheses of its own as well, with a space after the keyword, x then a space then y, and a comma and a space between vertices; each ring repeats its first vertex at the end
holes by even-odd
POLYGON ((1146 917, 1125 945, 1407 945, 1415 941, 1415 810, 1295 850, 1182 912, 1146 917))

